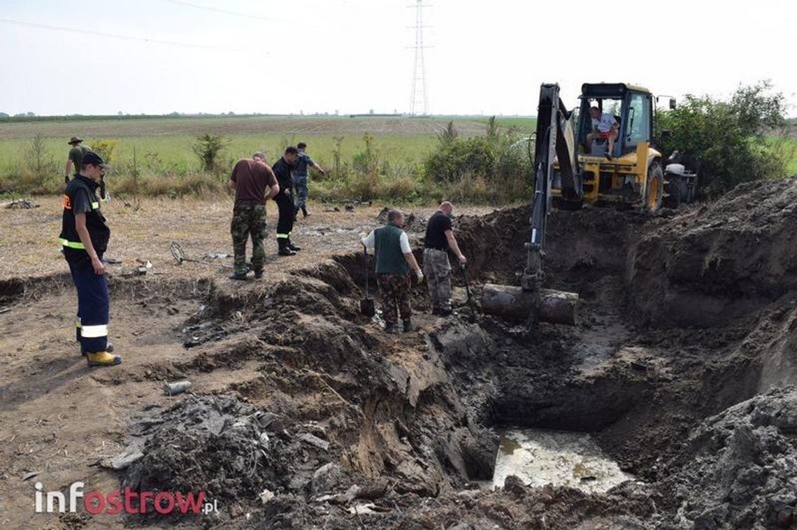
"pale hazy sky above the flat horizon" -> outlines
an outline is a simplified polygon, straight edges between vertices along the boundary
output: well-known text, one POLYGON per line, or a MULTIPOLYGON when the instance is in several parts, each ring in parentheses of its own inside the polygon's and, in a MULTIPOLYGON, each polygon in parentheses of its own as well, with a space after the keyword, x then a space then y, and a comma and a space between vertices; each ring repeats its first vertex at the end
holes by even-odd
MULTIPOLYGON (((0 0, 0 112, 410 111, 416 0, 0 0)), ((428 110, 536 114, 584 82, 725 97, 771 79, 797 114, 797 2, 425 0, 428 110)))

